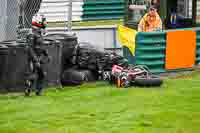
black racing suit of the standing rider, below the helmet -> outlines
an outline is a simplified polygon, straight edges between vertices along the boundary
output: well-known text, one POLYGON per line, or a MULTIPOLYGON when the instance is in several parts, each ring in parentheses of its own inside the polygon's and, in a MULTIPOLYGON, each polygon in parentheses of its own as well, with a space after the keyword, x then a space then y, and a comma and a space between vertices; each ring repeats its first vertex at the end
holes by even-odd
POLYGON ((30 95, 31 89, 35 85, 36 95, 41 95, 45 81, 44 64, 50 61, 47 50, 42 48, 43 38, 40 31, 34 31, 32 35, 32 45, 28 50, 28 62, 30 66, 30 75, 26 82, 26 95, 30 95))

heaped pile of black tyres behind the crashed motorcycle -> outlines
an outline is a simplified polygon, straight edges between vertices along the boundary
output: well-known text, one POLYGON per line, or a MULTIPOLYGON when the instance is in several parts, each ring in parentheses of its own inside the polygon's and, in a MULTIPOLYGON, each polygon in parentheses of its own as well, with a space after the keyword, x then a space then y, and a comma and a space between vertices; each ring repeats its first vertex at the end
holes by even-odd
POLYGON ((98 51, 91 44, 87 43, 80 43, 77 53, 77 64, 80 69, 111 71, 113 65, 127 65, 124 57, 114 53, 98 51))

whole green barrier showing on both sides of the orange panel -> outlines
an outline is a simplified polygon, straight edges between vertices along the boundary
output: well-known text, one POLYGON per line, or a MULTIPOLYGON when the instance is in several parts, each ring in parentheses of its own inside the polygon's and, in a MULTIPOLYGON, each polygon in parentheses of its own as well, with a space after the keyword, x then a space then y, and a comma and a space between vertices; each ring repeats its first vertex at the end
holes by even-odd
MULTIPOLYGON (((185 29, 194 30, 197 34, 196 40, 196 65, 200 64, 200 28, 185 29)), ((141 32, 136 37, 135 57, 130 56, 130 52, 124 50, 124 56, 129 63, 136 65, 146 65, 152 73, 164 73, 166 54, 166 33, 164 32, 141 32), (134 63, 133 63, 134 60, 134 63)), ((183 70, 183 69, 180 69, 183 70)), ((179 70, 174 70, 179 71, 179 70)))

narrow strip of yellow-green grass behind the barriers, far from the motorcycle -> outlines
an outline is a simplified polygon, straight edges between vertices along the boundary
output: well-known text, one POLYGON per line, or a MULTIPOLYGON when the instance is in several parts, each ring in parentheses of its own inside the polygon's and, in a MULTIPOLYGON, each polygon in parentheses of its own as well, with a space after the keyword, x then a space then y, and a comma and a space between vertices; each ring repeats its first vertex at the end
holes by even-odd
MULTIPOLYGON (((101 20, 101 21, 81 21, 81 22, 73 22, 72 26, 102 26, 102 25, 123 25, 123 20, 101 20)), ((64 22, 54 22, 49 23, 48 27, 64 27, 67 26, 67 23, 64 22)))

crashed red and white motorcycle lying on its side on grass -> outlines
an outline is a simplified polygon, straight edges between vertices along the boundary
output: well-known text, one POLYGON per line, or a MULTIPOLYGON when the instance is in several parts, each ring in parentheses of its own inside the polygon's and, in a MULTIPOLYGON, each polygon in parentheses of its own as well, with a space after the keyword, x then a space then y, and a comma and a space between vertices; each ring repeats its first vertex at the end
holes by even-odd
POLYGON ((117 87, 130 86, 161 86, 163 79, 151 74, 146 66, 128 66, 127 68, 114 65, 111 72, 104 72, 104 80, 114 83, 117 87))

